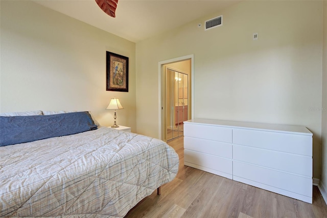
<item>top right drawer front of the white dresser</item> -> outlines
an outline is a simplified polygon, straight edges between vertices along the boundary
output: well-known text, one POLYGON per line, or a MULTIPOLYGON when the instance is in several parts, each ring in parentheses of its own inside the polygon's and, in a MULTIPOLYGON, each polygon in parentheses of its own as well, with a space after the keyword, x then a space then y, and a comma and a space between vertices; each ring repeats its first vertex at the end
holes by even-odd
POLYGON ((233 144, 312 156, 312 136, 270 131, 233 129, 233 144))

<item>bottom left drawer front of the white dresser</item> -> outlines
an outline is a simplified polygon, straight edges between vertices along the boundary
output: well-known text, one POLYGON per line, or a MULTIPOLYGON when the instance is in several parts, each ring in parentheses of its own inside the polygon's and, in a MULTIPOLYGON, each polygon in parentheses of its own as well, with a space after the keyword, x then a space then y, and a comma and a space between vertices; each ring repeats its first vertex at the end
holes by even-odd
POLYGON ((232 174, 232 160, 184 149, 184 161, 232 174))

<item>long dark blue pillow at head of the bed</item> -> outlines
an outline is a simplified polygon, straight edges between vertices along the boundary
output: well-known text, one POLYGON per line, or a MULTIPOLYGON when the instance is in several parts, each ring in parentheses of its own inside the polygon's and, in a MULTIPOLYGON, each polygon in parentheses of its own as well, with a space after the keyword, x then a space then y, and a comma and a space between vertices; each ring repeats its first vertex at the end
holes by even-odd
POLYGON ((88 112, 41 116, 0 116, 0 146, 33 142, 97 129, 88 112))

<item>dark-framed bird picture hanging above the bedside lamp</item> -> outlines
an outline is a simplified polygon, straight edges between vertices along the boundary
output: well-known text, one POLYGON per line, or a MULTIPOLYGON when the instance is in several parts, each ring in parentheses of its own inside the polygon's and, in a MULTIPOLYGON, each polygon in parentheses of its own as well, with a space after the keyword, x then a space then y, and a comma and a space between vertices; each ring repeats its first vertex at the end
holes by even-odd
POLYGON ((107 91, 128 92, 128 58, 107 51, 107 91))

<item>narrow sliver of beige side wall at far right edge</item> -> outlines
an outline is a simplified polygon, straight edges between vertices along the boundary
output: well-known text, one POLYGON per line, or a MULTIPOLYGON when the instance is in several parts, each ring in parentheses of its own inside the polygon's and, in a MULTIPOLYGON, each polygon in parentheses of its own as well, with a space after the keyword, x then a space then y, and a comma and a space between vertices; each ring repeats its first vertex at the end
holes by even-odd
POLYGON ((323 56, 322 56, 322 149, 321 149, 321 180, 327 201, 327 1, 323 1, 323 56))

